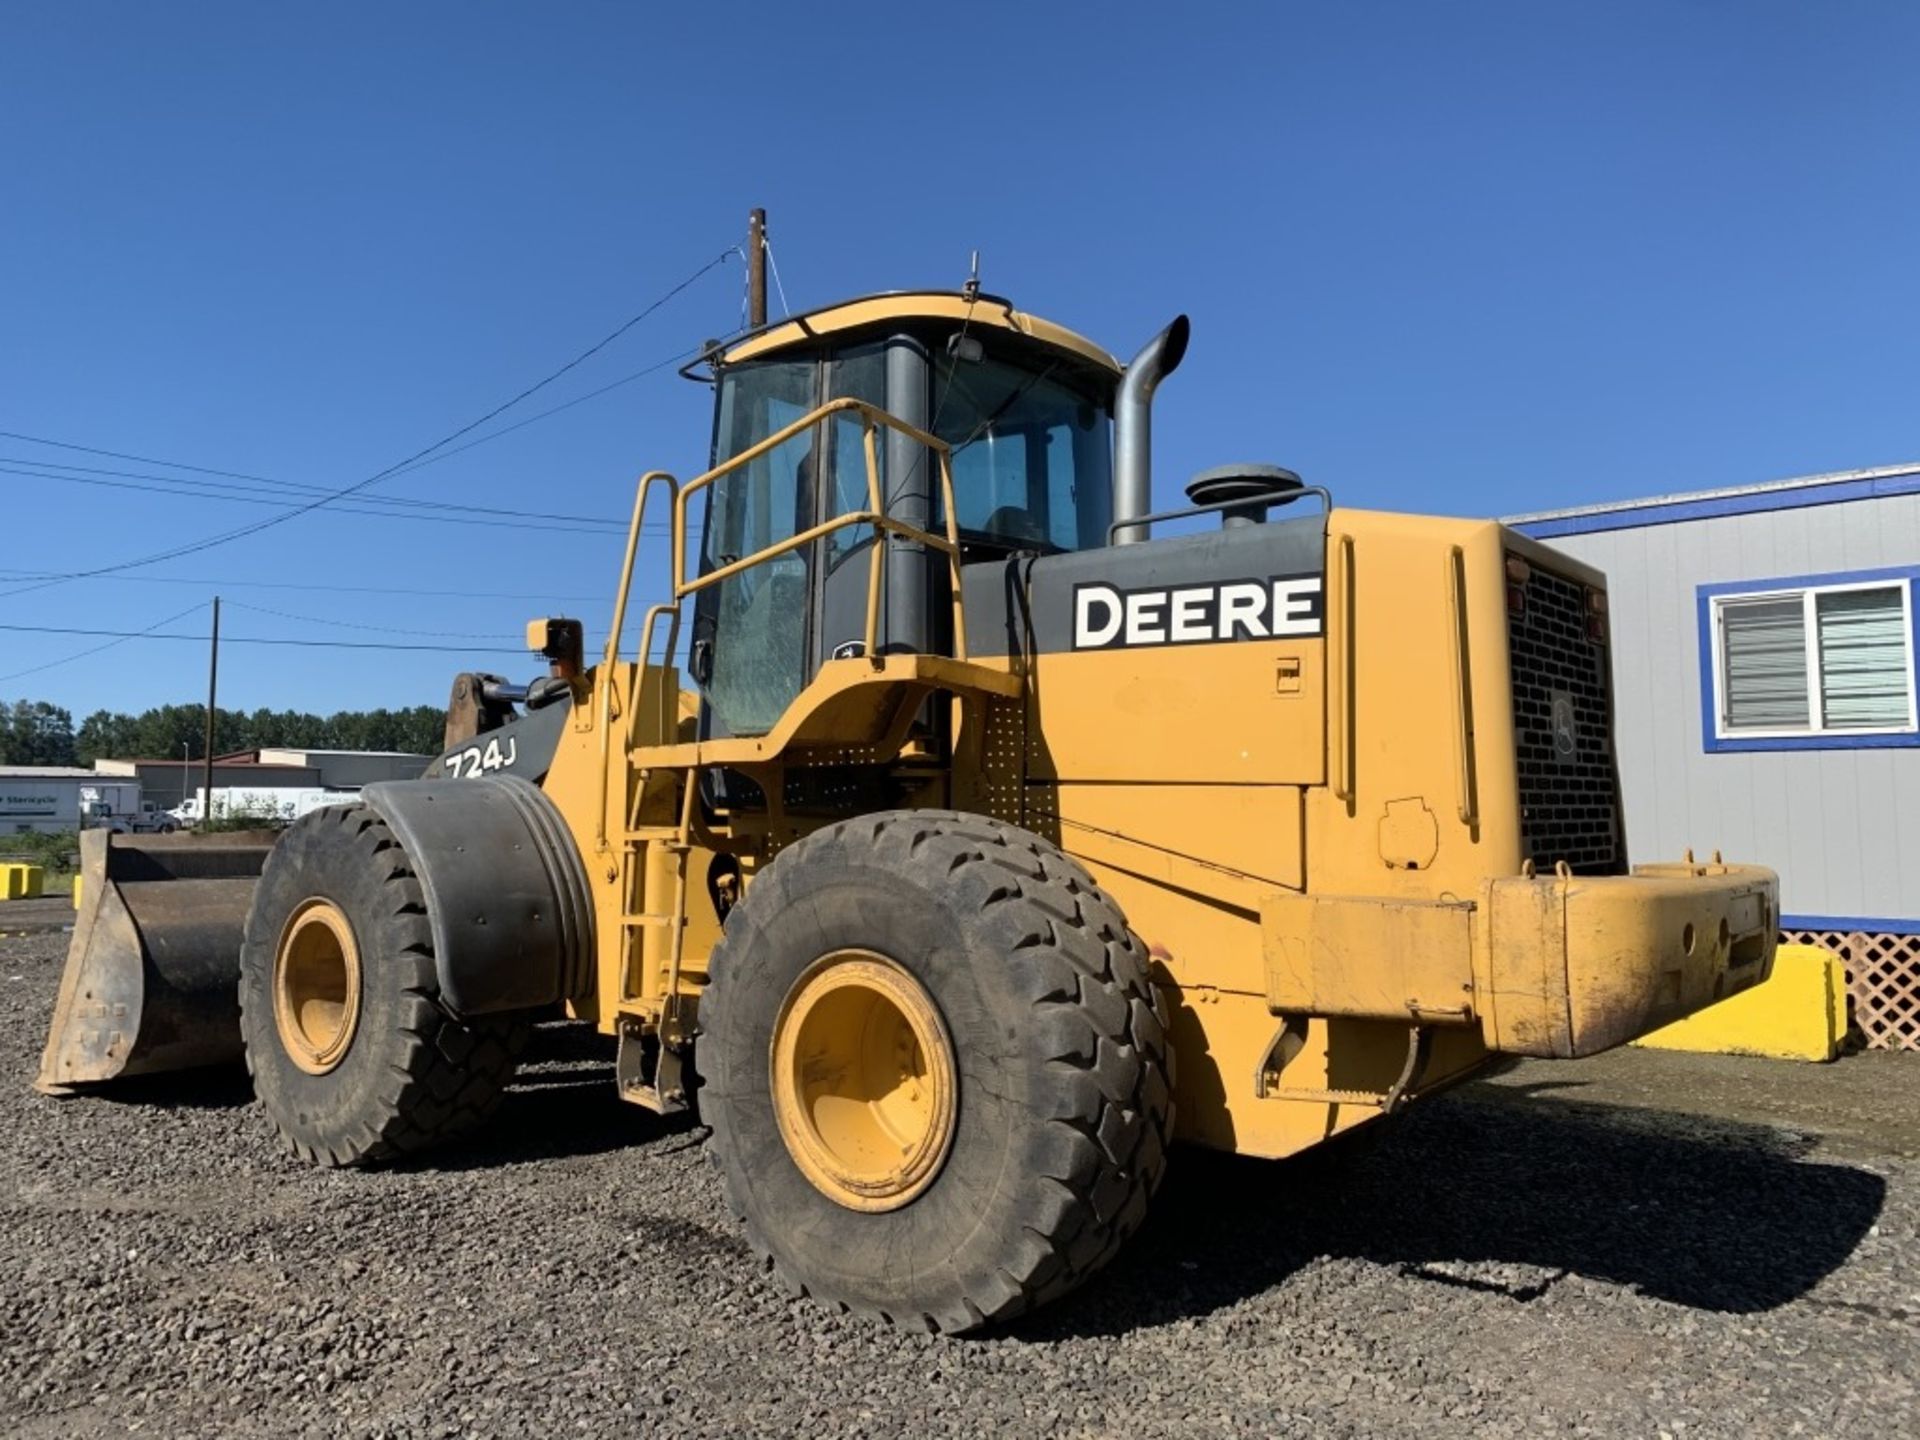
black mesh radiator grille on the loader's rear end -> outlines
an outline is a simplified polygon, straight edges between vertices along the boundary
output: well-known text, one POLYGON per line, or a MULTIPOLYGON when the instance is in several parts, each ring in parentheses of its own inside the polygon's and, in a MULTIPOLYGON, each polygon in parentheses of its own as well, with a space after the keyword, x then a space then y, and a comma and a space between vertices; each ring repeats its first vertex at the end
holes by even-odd
POLYGON ((1588 636, 1586 588, 1540 568, 1515 584, 1524 601, 1507 607, 1521 852, 1540 870, 1565 860, 1576 876, 1619 874, 1613 697, 1607 647, 1588 636))

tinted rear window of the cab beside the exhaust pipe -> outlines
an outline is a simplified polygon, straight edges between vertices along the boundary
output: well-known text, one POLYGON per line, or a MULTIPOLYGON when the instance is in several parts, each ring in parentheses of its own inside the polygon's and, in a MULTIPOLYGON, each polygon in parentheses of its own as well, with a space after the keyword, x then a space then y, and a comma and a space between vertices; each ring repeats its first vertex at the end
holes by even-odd
POLYGON ((1114 518, 1106 407, 1054 365, 935 367, 933 432, 954 447, 960 530, 1031 549, 1094 549, 1114 518))

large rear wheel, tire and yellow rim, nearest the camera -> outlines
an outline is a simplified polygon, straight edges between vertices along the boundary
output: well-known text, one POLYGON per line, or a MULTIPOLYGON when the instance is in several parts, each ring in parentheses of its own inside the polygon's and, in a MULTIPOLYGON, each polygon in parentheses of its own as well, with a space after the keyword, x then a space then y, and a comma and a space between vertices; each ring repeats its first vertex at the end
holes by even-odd
POLYGON ((1164 1004, 1044 839, 948 810, 818 831, 732 910, 701 998, 728 1204, 791 1290, 889 1323, 1054 1300, 1165 1169, 1164 1004))

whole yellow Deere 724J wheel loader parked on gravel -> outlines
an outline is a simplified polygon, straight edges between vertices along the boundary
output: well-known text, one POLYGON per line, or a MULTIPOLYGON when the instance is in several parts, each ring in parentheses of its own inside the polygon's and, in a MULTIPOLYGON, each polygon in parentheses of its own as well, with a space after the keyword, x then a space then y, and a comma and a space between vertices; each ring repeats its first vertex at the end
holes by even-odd
POLYGON ((1102 1265, 1173 1140, 1290 1156, 1759 983, 1772 874, 1628 866, 1603 576, 1265 465, 1150 513, 1187 336, 968 288, 712 348, 597 664, 534 622, 545 678, 463 676, 426 778, 271 847, 84 837, 42 1087, 244 1052, 355 1165, 564 1012, 787 1284, 966 1331, 1102 1265))

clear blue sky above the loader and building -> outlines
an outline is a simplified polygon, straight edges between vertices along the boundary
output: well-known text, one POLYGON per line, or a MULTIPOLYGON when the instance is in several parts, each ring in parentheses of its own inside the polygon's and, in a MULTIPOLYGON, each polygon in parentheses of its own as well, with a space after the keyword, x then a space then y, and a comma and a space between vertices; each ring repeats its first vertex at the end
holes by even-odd
MULTIPOLYGON (((758 204, 797 309, 956 286, 977 248, 989 290, 1119 353, 1188 311, 1162 499, 1231 459, 1480 515, 1920 459, 1905 4, 15 4, 0 54, 8 432, 351 484, 758 204)), ((730 263, 503 422, 739 313, 730 263)), ((668 369, 371 493, 618 518, 707 434, 668 369)), ((0 440, 0 470, 48 463, 180 474, 0 440)), ((0 472, 0 591, 269 513, 0 472)), ((0 595, 0 624, 219 591, 230 636, 511 645, 549 609, 601 630, 616 566, 609 534, 319 511, 0 595)), ((0 676, 98 643, 0 630, 0 676)), ((204 666, 129 641, 0 697, 79 718, 200 697, 204 666)), ((440 703, 467 666, 532 670, 230 645, 221 699, 440 703)))

